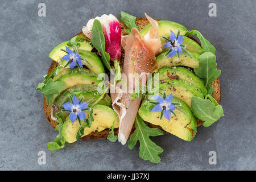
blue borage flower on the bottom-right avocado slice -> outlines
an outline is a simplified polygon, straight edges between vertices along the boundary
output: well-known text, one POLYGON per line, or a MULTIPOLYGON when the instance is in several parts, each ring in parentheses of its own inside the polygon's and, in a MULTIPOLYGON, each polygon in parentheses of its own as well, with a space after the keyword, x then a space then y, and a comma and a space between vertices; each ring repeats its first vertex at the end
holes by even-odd
POLYGON ((172 103, 172 99, 173 99, 172 93, 168 97, 166 97, 166 93, 164 93, 164 97, 161 97, 161 96, 152 96, 152 97, 154 98, 154 100, 158 101, 158 103, 150 102, 152 104, 156 104, 151 110, 151 112, 161 111, 160 119, 162 119, 164 115, 164 117, 168 119, 168 121, 170 121, 171 119, 171 113, 173 113, 176 117, 176 114, 174 113, 176 103, 172 103))

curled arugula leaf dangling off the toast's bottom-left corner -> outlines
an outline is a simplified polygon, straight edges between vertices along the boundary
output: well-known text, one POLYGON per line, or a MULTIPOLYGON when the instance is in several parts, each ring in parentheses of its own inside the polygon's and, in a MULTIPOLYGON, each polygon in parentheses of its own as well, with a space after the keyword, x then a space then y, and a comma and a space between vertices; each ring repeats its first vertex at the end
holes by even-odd
POLYGON ((63 127, 63 121, 60 118, 58 118, 57 122, 59 122, 59 125, 56 126, 56 130, 59 131, 59 134, 55 138, 54 142, 49 142, 47 144, 48 150, 51 150, 51 151, 59 150, 59 149, 65 147, 66 140, 64 139, 64 137, 61 134, 62 127, 63 127))

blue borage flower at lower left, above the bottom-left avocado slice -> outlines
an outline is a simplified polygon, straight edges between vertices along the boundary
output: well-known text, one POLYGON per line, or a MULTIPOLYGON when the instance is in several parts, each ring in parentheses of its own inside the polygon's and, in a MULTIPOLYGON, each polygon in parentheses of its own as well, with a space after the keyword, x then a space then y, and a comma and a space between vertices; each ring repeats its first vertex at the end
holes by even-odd
POLYGON ((74 122, 76 119, 79 119, 79 123, 81 125, 80 119, 86 122, 84 110, 89 110, 88 105, 89 102, 81 102, 82 99, 79 101, 78 98, 73 94, 73 98, 71 98, 72 103, 66 102, 62 106, 64 107, 64 111, 70 111, 69 119, 74 122))

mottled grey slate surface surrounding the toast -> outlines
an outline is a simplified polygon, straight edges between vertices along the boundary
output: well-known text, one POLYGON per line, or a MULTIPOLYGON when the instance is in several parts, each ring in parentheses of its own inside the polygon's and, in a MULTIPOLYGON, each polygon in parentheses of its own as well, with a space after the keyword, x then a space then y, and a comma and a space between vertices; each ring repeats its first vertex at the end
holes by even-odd
POLYGON ((233 170, 256 169, 256 1, 49 1, 46 17, 38 16, 39 1, 3 1, 0 7, 0 169, 35 170, 233 170), (217 17, 208 5, 217 5, 217 17), (48 53, 69 40, 90 18, 120 11, 137 17, 143 13, 199 30, 217 49, 221 73, 221 104, 225 117, 200 127, 192 142, 172 135, 153 140, 164 149, 162 163, 138 157, 139 146, 108 140, 66 144, 48 151, 57 132, 47 123, 43 96, 35 88, 51 64, 48 53), (46 165, 38 152, 46 151, 46 165), (217 165, 209 165, 208 152, 217 152, 217 165))

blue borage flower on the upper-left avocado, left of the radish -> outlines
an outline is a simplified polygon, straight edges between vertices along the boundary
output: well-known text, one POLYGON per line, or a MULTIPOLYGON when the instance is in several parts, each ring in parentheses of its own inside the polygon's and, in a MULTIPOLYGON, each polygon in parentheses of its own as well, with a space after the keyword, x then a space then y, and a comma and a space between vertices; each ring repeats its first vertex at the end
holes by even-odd
MULTIPOLYGON (((79 67, 82 67, 82 61, 80 60, 79 54, 76 53, 75 51, 72 51, 67 46, 65 46, 65 47, 66 47, 65 52, 68 54, 61 57, 61 59, 69 61, 68 64, 69 64, 70 69, 73 69, 76 65, 78 65, 79 67)), ((63 49, 63 51, 64 51, 64 49, 63 49)), ((65 65, 65 67, 67 67, 67 65, 65 65)))

